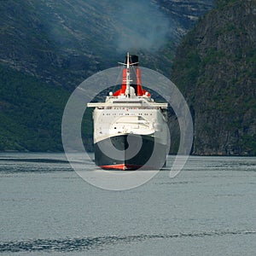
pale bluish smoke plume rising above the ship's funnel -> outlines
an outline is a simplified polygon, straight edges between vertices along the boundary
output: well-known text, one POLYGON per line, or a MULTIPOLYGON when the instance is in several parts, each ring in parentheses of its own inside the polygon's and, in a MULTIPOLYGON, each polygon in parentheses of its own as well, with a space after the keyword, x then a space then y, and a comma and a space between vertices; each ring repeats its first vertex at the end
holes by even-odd
POLYGON ((116 35, 119 51, 154 51, 172 34, 169 19, 156 3, 148 0, 120 1, 115 20, 123 28, 116 35))

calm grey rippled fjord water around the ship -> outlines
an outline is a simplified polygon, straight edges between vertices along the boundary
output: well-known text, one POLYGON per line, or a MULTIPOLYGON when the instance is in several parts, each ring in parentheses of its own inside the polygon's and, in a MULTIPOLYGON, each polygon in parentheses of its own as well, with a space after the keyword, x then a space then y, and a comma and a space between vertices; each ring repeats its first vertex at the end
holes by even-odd
POLYGON ((4 255, 256 252, 256 158, 190 157, 125 191, 84 182, 64 154, 0 154, 0 177, 4 255))

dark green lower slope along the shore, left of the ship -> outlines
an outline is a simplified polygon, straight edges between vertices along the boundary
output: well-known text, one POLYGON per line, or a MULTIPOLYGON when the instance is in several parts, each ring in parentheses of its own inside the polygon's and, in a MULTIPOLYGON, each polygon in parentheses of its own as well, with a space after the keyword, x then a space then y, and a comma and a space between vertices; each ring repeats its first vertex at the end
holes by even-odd
POLYGON ((68 92, 0 66, 0 150, 61 151, 68 92))

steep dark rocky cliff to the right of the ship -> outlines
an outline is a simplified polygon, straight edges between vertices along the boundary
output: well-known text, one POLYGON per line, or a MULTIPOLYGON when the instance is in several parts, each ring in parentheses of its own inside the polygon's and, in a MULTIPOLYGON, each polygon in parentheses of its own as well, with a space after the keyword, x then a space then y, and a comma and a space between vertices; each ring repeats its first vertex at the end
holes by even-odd
POLYGON ((172 80, 189 102, 194 154, 256 154, 256 1, 218 1, 177 50, 172 80))

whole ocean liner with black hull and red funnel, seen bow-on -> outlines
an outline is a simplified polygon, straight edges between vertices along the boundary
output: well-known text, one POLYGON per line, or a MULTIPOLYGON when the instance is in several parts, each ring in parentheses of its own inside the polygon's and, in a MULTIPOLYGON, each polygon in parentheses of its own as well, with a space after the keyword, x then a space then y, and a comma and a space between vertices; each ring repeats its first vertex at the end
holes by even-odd
MULTIPOLYGON (((143 89, 137 55, 126 56, 121 88, 95 108, 95 163, 102 169, 159 169, 165 165, 168 103, 154 102, 143 89)), ((114 85, 114 84, 113 84, 114 85)))

